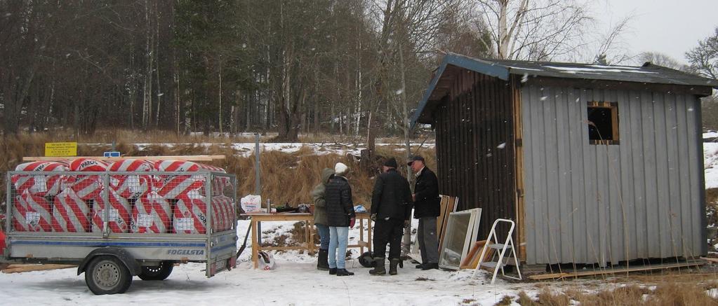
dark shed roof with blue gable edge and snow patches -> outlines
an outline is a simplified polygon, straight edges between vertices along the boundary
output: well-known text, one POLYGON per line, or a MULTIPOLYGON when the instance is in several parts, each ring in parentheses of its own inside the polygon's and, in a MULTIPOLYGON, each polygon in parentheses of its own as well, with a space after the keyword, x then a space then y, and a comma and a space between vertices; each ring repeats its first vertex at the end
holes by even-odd
MULTIPOLYGON (((447 70, 460 67, 508 80, 510 75, 524 75, 526 77, 556 77, 564 79, 606 80, 618 82, 653 83, 666 85, 706 86, 718 87, 718 80, 712 80, 698 75, 691 75, 679 70, 646 63, 642 67, 612 66, 600 64, 577 64, 564 62, 526 62, 507 59, 476 59, 461 54, 447 53, 439 68, 434 73, 424 97, 419 102, 419 108, 411 118, 411 128, 421 118, 421 113, 429 101, 438 101, 445 95, 445 91, 434 92, 437 86, 450 86, 452 78, 444 77, 447 70)), ((448 74, 447 74, 448 75, 448 74)))

